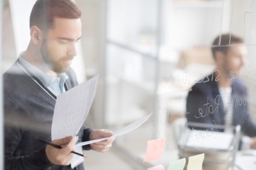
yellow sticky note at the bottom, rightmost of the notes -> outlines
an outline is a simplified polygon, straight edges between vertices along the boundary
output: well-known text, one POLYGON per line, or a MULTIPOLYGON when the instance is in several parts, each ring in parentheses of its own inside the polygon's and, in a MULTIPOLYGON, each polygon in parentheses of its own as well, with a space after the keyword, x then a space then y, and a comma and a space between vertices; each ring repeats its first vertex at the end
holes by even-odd
POLYGON ((189 157, 187 170, 202 170, 202 162, 204 161, 204 154, 189 157))

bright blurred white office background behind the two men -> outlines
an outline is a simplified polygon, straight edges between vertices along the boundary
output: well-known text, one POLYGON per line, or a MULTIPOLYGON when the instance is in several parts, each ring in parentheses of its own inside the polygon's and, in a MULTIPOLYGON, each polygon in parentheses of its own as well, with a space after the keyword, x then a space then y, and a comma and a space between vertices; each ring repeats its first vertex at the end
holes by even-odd
MULTIPOLYGON (((28 16, 34 2, 2 1, 2 73, 28 45, 28 16)), ((83 13, 83 35, 72 68, 80 83, 99 74, 85 124, 114 131, 153 113, 139 129, 116 138, 107 153, 85 151, 87 170, 155 165, 167 169, 170 161, 182 158, 175 130, 183 130, 179 128, 186 121, 190 88, 215 68, 211 43, 222 33, 233 32, 245 40, 248 56, 240 79, 248 87, 249 111, 256 121, 256 0, 75 2, 83 13), (159 138, 166 139, 163 156, 143 162, 147 141, 159 138)), ((217 157, 213 154, 211 158, 217 157)), ((238 169, 236 165, 217 169, 231 168, 238 169)))

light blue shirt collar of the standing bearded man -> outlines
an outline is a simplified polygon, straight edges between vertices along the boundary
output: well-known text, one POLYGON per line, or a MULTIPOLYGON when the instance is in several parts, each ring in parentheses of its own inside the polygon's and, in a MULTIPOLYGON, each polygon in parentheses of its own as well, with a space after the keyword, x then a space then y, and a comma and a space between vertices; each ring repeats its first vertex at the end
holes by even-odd
POLYGON ((24 52, 20 53, 19 55, 19 61, 22 62, 25 67, 28 68, 28 70, 31 71, 31 73, 34 74, 42 83, 43 85, 48 88, 51 83, 53 83, 56 79, 60 79, 59 77, 63 77, 65 80, 68 79, 68 76, 66 73, 59 73, 59 77, 52 77, 49 76, 48 74, 44 73, 42 70, 39 68, 35 67, 33 64, 30 64, 30 62, 26 61, 24 58, 22 58, 24 52))

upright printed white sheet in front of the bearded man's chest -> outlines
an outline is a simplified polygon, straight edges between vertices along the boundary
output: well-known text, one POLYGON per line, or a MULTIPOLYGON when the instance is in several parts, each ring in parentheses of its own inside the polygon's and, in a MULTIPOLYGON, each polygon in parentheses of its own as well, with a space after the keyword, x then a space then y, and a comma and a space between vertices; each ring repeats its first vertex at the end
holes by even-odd
POLYGON ((76 136, 95 98, 99 75, 57 96, 52 119, 52 140, 76 136))

